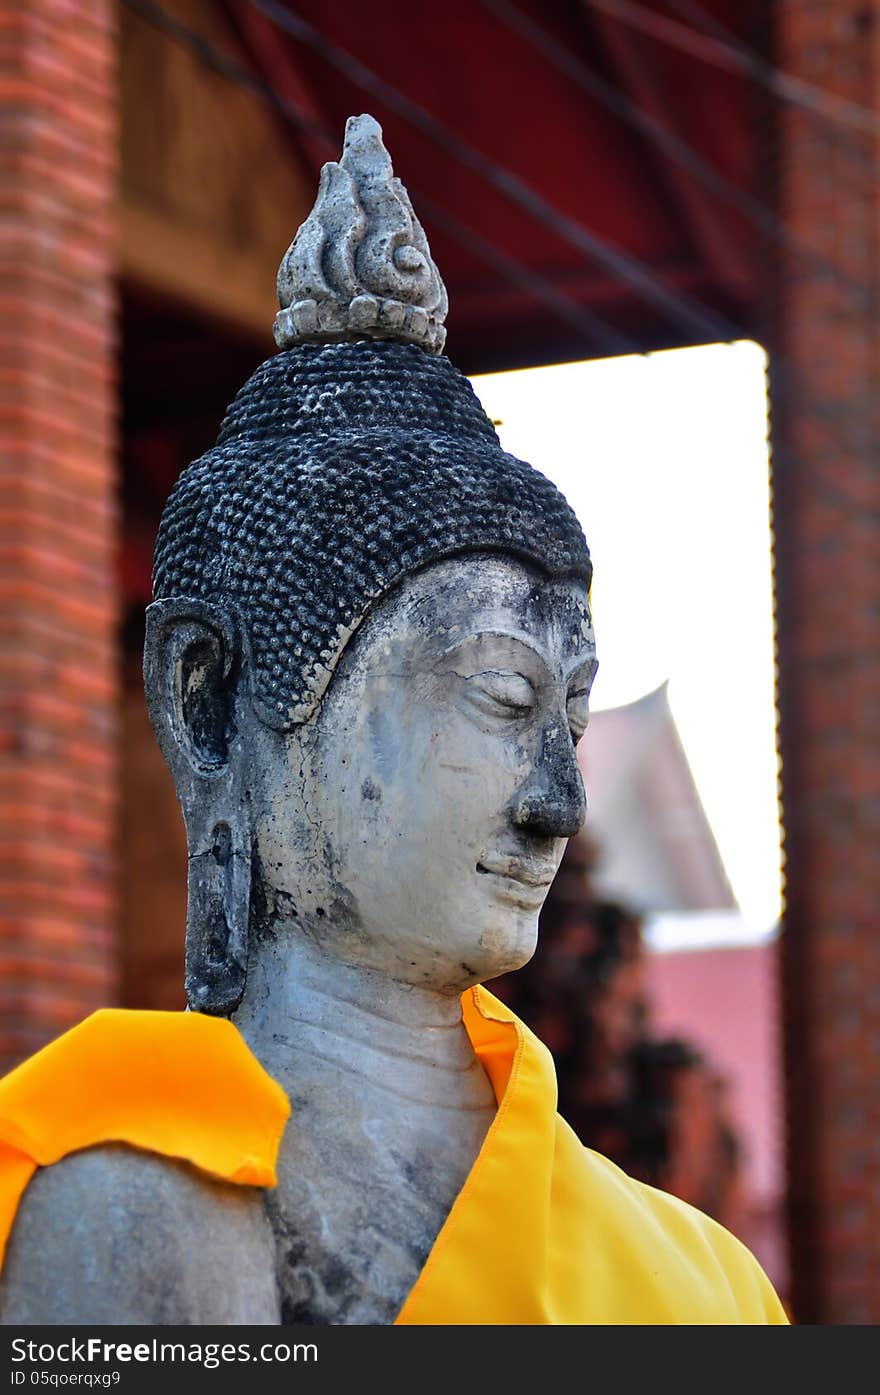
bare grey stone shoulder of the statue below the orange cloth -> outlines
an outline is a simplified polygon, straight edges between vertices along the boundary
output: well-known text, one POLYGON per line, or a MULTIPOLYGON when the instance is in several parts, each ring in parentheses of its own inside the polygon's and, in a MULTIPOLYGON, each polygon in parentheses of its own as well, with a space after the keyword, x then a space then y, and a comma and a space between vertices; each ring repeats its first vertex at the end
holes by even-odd
POLYGON ((278 1322, 257 1187, 102 1144, 38 1169, 0 1278, 0 1322, 278 1322))

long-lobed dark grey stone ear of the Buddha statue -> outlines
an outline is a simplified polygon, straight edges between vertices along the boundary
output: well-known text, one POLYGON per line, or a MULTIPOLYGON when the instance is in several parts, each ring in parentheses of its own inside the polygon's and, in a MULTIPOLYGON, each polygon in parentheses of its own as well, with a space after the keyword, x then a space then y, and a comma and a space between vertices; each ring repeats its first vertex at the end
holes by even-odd
POLYGON ((223 607, 155 601, 146 610, 146 706, 187 826, 190 1007, 227 1016, 247 978, 251 805, 237 741, 243 631, 223 607))

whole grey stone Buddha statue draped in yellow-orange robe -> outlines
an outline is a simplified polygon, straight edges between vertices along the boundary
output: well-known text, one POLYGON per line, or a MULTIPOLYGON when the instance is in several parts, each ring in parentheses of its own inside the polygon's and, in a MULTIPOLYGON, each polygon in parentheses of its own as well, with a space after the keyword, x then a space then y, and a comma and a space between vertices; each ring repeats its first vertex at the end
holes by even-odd
POLYGON ((279 300, 146 615, 188 1011, 93 1014, 0 1083, 0 1317, 784 1321, 732 1236, 582 1148, 480 988, 584 819, 590 555, 442 354, 370 116, 279 300))

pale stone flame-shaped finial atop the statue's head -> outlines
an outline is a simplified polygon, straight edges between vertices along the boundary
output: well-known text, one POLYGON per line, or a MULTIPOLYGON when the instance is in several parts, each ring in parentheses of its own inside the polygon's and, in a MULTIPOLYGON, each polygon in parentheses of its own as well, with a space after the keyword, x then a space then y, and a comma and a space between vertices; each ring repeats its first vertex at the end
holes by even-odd
POLYGON ((279 349, 395 339, 441 353, 449 301, 372 116, 350 116, 339 162, 278 272, 279 349))

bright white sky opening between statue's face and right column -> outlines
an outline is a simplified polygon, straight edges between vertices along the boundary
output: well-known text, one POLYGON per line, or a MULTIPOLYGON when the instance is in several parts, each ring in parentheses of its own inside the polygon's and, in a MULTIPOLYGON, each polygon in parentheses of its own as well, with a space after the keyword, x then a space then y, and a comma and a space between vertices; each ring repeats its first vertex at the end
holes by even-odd
POLYGON ((505 449, 549 476, 595 566, 594 709, 668 679, 741 908, 657 947, 760 940, 780 917, 766 356, 741 342, 490 374, 505 449))

